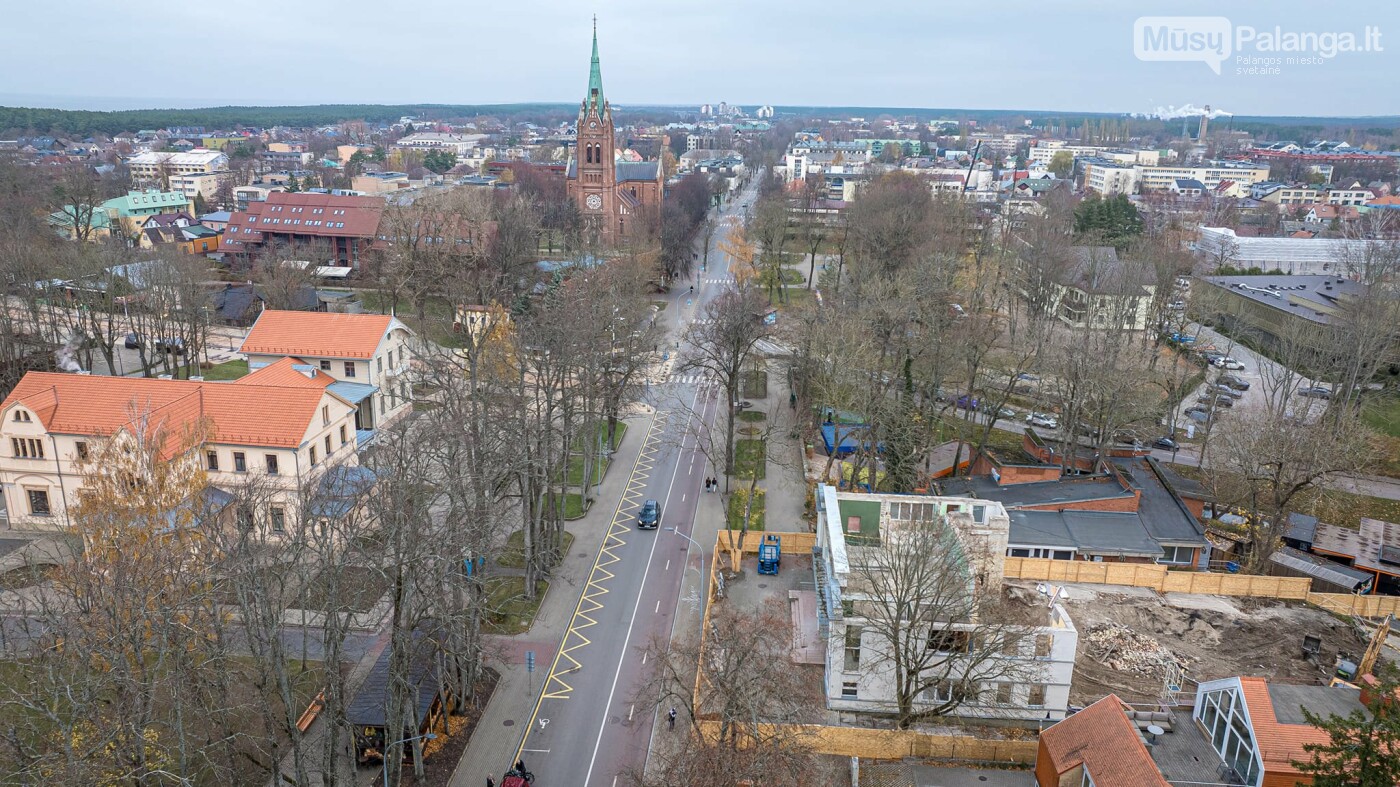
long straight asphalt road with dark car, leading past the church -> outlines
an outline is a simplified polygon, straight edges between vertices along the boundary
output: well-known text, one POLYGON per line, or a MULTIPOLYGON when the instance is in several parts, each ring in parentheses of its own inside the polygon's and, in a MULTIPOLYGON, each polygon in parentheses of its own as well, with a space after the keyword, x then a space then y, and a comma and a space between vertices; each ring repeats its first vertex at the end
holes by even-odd
MULTIPOLYGON (((734 199, 721 217, 742 211, 752 189, 734 199)), ((662 319, 671 332, 671 361, 654 375, 641 451, 622 500, 580 594, 574 615, 545 678, 518 758, 539 787, 613 787, 624 774, 641 773, 657 720, 654 695, 643 690, 651 675, 647 646, 671 640, 680 585, 693 556, 690 535, 704 478, 714 475, 696 444, 700 423, 722 415, 718 386, 694 375, 671 377, 685 330, 727 281, 722 252, 714 252, 731 224, 721 223, 711 245, 710 270, 696 270, 694 291, 678 286, 662 319), (661 503, 661 527, 637 529, 644 500, 661 503), (676 528, 669 532, 665 528, 676 528)))

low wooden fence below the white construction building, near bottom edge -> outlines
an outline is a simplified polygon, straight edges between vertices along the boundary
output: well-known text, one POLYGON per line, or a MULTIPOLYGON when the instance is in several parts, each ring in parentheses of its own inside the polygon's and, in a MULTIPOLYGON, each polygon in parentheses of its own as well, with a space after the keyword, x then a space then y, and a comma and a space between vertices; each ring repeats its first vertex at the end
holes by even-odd
MULTIPOLYGON (((720 723, 701 718, 700 734, 714 742, 720 737, 720 723)), ((769 738, 778 730, 760 724, 760 735, 769 738)), ((820 755, 858 756, 861 759, 953 759, 967 762, 1001 762, 1032 765, 1036 762, 1035 741, 988 741, 972 735, 935 735, 914 730, 869 730, 864 727, 826 727, 822 724, 784 725, 792 735, 820 755)))

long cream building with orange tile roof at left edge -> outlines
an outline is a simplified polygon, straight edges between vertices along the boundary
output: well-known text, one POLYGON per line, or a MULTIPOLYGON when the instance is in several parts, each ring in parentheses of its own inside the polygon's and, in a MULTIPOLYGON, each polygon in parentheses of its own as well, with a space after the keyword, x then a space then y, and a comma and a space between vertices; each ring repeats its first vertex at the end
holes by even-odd
MULTIPOLYGON (((0 492, 11 529, 60 529, 84 487, 97 444, 161 430, 193 447, 210 486, 258 485, 259 511, 239 511, 276 534, 329 468, 356 465, 356 406, 328 375, 290 358, 234 382, 29 372, 0 403, 0 492)), ((249 522, 249 524, 252 524, 249 522)))

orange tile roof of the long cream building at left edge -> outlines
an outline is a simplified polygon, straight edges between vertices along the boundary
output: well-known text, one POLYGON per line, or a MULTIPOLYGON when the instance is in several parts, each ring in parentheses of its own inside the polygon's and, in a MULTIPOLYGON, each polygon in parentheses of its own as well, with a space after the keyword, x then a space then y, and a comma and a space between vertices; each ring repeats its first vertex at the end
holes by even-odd
POLYGON ((0 403, 0 410, 21 403, 50 433, 94 437, 132 429, 139 419, 148 419, 150 429, 167 433, 179 433, 207 419, 213 443, 295 448, 316 416, 322 395, 315 386, 31 371, 0 403))

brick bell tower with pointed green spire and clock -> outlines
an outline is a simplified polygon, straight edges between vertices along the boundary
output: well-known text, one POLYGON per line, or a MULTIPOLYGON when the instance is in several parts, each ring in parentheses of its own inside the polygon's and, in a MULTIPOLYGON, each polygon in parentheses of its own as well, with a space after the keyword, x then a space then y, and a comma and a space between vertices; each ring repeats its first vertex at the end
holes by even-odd
POLYGON ((622 211, 617 207, 617 167, 613 160, 612 106, 603 98, 603 74, 598 62, 598 17, 594 17, 594 59, 588 69, 588 94, 578 109, 577 178, 568 186, 574 202, 601 241, 612 242, 620 232, 622 211))

